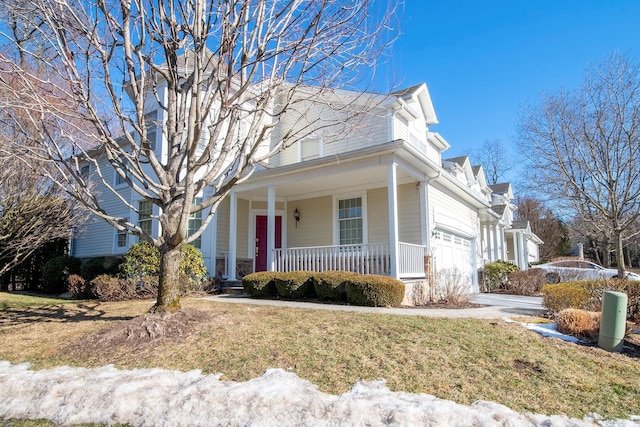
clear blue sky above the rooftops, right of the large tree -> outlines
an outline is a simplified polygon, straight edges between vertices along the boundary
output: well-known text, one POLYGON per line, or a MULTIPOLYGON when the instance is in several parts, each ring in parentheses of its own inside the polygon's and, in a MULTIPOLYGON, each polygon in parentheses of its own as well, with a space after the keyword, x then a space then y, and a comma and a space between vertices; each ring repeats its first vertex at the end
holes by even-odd
POLYGON ((513 146, 525 102, 577 87, 614 51, 640 57, 640 1, 406 0, 388 65, 395 85, 426 83, 445 157, 485 140, 513 146))

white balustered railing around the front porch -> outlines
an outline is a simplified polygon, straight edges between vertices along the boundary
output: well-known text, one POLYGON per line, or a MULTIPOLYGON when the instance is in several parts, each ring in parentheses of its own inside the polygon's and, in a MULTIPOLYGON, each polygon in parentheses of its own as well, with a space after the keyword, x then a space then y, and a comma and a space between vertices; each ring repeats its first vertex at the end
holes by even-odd
MULTIPOLYGON (((313 246, 276 249, 276 271, 346 270, 360 274, 391 274, 389 243, 362 245, 313 246)), ((424 247, 399 244, 398 274, 400 277, 424 277, 424 247)))

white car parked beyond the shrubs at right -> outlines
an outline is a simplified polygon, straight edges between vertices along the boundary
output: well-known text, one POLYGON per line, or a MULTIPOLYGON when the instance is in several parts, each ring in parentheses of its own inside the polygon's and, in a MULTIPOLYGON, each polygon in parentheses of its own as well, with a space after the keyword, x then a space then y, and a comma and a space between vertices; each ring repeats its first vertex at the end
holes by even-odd
MULTIPOLYGON (((547 283, 570 282, 574 280, 611 279, 618 277, 615 268, 604 268, 589 261, 564 260, 533 265, 544 272, 547 283)), ((628 280, 640 280, 640 275, 630 271, 625 273, 628 280)))

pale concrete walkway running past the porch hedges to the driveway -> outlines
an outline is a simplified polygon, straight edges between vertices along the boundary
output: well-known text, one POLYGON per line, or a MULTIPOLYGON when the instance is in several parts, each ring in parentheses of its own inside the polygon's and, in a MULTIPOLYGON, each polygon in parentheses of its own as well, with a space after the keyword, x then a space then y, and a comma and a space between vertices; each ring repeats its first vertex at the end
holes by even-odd
POLYGON ((496 319, 518 316, 541 316, 546 312, 542 298, 503 294, 475 294, 472 302, 485 305, 478 308, 385 308, 336 305, 315 302, 254 299, 246 295, 214 295, 204 299, 235 304, 307 308, 312 310, 352 311, 358 313, 396 314, 404 316, 496 319))

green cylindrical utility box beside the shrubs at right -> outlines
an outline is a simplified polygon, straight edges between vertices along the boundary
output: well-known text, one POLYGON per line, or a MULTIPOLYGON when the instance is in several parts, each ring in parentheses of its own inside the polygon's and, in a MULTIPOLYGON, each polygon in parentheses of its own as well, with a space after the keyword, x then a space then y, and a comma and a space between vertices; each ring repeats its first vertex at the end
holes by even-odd
POLYGON ((605 291, 602 298, 598 347, 620 353, 624 346, 626 325, 627 295, 622 292, 605 291))

